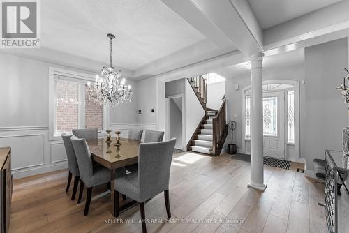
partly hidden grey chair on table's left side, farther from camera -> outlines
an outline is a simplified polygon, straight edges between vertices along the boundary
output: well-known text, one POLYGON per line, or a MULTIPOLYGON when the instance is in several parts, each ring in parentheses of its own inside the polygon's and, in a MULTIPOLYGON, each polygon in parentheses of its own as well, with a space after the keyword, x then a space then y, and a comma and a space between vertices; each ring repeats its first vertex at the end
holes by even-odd
POLYGON ((77 165, 77 160, 75 156, 75 152, 73 149, 73 144, 71 143, 70 140, 70 135, 67 135, 66 133, 62 133, 62 140, 64 143, 64 148, 66 149, 66 156, 68 158, 68 183, 66 186, 66 192, 68 192, 69 187, 70 187, 70 182, 72 179, 72 175, 74 176, 74 186, 73 186, 73 194, 71 195, 71 200, 75 199, 76 191, 77 191, 77 186, 80 181, 80 172, 79 172, 79 167, 77 165))

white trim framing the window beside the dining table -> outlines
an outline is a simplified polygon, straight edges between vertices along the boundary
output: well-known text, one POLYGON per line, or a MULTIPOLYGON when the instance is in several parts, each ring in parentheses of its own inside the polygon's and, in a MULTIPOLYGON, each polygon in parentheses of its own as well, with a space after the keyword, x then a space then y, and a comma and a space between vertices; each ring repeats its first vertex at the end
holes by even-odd
MULTIPOLYGON (((54 75, 64 75, 67 77, 73 77, 76 79, 80 80, 87 80, 94 82, 95 80, 95 75, 87 74, 87 73, 80 73, 77 71, 73 70, 67 70, 64 68, 57 68, 54 66, 49 67, 49 82, 48 82, 48 88, 49 88, 49 98, 48 98, 48 123, 49 123, 49 128, 48 128, 48 139, 50 141, 54 140, 61 140, 61 135, 54 135, 54 128, 55 128, 55 116, 56 116, 56 93, 54 89, 54 75)), ((81 98, 82 90, 79 88, 79 97, 81 98)), ((79 103, 80 105, 81 103, 79 103)), ((79 106, 79 114, 81 113, 81 106, 79 106)), ((98 132, 98 137, 101 135, 105 135, 105 129, 107 126, 109 126, 109 107, 106 107, 103 105, 103 125, 102 125, 102 130, 101 132, 98 132)), ((80 122, 80 116, 79 116, 79 127, 81 127, 82 122, 80 122)))

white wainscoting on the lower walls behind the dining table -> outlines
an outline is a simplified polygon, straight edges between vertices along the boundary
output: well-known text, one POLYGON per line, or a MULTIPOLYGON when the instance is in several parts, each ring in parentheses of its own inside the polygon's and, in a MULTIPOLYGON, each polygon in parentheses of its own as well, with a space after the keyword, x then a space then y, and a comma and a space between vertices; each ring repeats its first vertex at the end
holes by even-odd
MULTIPOLYGON (((121 131, 121 137, 127 137, 130 128, 156 130, 156 123, 110 123, 113 137, 115 130, 121 131)), ((48 139, 48 126, 0 127, 0 147, 12 149, 15 179, 68 167, 63 142, 48 139)))

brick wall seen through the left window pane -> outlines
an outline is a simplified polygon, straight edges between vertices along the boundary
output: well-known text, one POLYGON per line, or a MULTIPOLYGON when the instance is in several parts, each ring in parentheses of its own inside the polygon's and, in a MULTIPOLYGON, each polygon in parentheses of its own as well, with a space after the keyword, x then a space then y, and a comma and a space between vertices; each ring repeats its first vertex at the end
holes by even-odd
POLYGON ((56 133, 78 128, 78 84, 56 81, 56 133))

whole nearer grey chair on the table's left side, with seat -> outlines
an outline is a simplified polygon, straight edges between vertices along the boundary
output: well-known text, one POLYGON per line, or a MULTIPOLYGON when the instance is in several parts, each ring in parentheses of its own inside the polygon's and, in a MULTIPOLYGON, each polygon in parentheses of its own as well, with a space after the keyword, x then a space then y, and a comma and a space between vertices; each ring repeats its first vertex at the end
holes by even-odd
MULTIPOLYGON (((91 204, 92 188, 103 183, 110 183, 110 170, 103 166, 94 166, 92 163, 91 151, 83 138, 70 137, 75 151, 77 164, 80 172, 80 188, 87 187, 87 197, 84 209, 84 216, 89 213, 91 204)), ((126 175, 124 168, 115 170, 115 176, 126 175)))

